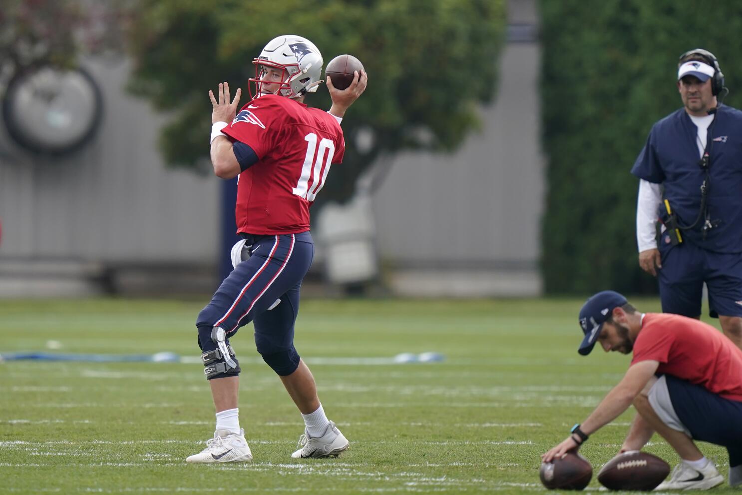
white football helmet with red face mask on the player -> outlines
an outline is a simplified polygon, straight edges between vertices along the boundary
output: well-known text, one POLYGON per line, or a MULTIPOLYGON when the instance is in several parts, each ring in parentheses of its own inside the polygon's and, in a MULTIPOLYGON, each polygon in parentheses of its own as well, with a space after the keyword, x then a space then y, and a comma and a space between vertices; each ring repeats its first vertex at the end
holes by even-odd
MULTIPOLYGON (((298 98, 306 93, 314 93, 320 85, 322 76, 322 54, 309 39, 295 34, 278 36, 268 42, 260 52, 260 56, 252 59, 255 64, 255 94, 252 94, 252 85, 249 86, 250 97, 257 98, 263 94, 264 68, 272 67, 283 71, 282 82, 277 91, 270 93, 289 98, 298 98)), ((267 92, 266 92, 267 93, 267 92)))

